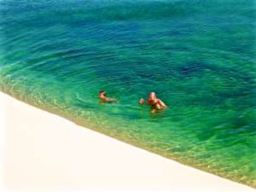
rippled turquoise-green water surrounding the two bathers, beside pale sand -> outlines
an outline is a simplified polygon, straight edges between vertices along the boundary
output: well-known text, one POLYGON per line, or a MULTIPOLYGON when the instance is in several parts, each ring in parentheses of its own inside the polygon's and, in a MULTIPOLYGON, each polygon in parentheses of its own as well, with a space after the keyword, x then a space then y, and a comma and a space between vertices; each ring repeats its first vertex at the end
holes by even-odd
POLYGON ((256 187, 253 1, 6 0, 0 12, 2 91, 256 187), (99 104, 99 90, 118 102, 99 104), (150 91, 169 108, 140 107, 150 91))

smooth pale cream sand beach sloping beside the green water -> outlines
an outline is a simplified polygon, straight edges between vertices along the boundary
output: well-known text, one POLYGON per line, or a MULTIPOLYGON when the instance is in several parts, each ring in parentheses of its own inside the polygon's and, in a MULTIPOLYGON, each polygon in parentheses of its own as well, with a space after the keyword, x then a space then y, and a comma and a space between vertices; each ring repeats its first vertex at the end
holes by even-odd
POLYGON ((255 191, 114 140, 7 94, 4 185, 12 190, 255 191))

